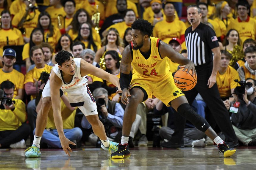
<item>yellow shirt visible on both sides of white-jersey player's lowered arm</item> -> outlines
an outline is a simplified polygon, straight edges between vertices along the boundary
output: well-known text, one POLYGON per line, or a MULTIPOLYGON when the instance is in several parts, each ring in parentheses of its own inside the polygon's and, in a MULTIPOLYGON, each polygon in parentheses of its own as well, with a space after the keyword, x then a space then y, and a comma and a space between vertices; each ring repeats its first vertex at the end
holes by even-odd
MULTIPOLYGON (((76 110, 71 112, 71 110, 68 109, 68 107, 64 104, 62 100, 60 104, 61 104, 61 117, 63 121, 63 129, 73 129, 75 127, 76 110)), ((52 107, 48 113, 46 129, 56 129, 54 118, 53 118, 52 107)))

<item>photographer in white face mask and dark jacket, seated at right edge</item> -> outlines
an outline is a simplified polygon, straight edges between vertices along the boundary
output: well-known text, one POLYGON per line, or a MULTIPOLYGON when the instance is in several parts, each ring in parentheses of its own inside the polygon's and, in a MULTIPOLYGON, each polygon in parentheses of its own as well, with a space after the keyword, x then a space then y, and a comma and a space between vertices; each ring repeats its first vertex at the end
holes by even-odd
POLYGON ((242 98, 237 94, 233 94, 238 107, 238 111, 234 111, 231 115, 233 128, 238 139, 246 146, 256 146, 256 80, 248 78, 246 82, 251 82, 252 87, 245 87, 242 98))

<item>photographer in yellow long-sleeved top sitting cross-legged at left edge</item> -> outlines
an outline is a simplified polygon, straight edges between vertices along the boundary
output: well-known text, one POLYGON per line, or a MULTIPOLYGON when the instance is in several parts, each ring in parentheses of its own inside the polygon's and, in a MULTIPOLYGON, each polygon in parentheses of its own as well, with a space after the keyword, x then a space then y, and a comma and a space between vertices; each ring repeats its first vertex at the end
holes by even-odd
POLYGON ((25 148, 30 131, 25 123, 25 104, 13 98, 15 86, 12 82, 4 81, 0 88, 0 148, 25 148))

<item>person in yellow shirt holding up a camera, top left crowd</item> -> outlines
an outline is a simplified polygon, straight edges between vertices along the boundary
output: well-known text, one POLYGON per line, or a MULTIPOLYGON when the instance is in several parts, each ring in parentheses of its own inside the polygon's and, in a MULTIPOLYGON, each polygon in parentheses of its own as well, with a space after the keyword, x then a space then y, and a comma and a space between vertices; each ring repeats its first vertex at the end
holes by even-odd
POLYGON ((22 8, 14 15, 12 25, 21 30, 24 42, 28 43, 32 30, 37 27, 40 12, 36 7, 35 0, 26 0, 24 3, 26 8, 22 8))

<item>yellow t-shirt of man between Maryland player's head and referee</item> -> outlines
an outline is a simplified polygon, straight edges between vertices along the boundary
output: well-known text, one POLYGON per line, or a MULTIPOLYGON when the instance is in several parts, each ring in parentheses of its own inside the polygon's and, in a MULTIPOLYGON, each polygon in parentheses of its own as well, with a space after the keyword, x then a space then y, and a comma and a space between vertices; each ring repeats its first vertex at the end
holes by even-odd
POLYGON ((181 38, 185 34, 185 23, 180 20, 174 20, 173 22, 167 22, 166 20, 156 23, 153 36, 158 37, 163 42, 169 43, 171 38, 181 38))

